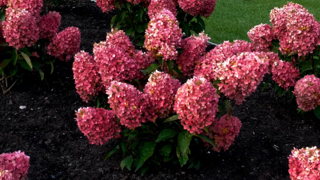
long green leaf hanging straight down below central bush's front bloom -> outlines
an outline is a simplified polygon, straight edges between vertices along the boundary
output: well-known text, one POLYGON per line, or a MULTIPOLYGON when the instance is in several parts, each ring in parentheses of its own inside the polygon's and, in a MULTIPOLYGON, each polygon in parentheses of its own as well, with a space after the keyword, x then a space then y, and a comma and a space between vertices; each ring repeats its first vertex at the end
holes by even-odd
POLYGON ((177 157, 180 161, 181 167, 187 163, 189 160, 188 154, 190 154, 189 145, 192 139, 193 134, 188 131, 182 131, 178 136, 178 145, 177 145, 177 157))

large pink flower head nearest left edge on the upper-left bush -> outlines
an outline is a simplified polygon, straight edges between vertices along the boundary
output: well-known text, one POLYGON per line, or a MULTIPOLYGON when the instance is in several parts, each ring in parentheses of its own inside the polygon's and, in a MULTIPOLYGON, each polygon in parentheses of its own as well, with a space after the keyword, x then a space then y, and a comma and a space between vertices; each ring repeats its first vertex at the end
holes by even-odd
POLYGON ((16 49, 32 46, 39 39, 36 19, 25 9, 6 9, 6 20, 2 22, 3 36, 16 49))

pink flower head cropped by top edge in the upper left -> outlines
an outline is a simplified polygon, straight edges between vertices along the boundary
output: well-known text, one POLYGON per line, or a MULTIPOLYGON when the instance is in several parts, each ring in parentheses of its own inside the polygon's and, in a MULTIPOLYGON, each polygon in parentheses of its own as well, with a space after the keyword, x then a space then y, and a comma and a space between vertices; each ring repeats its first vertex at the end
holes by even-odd
POLYGON ((43 0, 8 0, 7 6, 12 7, 12 9, 25 9, 37 20, 40 18, 43 0))

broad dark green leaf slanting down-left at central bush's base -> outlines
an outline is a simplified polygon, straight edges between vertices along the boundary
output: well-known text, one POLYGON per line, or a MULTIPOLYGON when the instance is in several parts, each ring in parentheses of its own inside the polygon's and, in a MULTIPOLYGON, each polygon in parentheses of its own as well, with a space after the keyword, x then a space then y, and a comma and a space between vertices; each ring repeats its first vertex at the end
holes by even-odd
POLYGON ((155 142, 147 142, 144 143, 140 149, 140 157, 137 160, 137 165, 135 171, 143 166, 143 164, 150 158, 155 151, 156 143, 155 142))

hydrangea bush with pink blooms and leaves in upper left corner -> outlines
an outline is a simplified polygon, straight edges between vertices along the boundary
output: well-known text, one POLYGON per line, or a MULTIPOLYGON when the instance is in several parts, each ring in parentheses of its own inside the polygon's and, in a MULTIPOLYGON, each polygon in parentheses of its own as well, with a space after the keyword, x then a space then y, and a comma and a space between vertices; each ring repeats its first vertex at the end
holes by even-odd
POLYGON ((0 2, 0 85, 6 94, 22 75, 51 66, 52 55, 67 61, 79 51, 80 31, 68 27, 59 33, 61 16, 49 12, 40 17, 42 0, 0 2), (47 52, 46 52, 47 51, 47 52))

